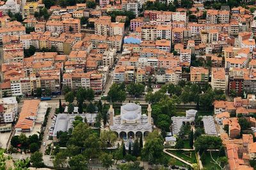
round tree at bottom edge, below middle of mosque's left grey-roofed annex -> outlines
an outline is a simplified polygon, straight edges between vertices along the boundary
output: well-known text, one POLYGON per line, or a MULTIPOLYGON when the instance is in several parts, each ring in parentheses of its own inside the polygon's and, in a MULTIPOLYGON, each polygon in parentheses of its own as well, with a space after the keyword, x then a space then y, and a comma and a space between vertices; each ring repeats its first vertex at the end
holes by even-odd
POLYGON ((83 155, 74 155, 69 161, 68 164, 70 169, 74 170, 87 170, 87 162, 84 159, 83 155))

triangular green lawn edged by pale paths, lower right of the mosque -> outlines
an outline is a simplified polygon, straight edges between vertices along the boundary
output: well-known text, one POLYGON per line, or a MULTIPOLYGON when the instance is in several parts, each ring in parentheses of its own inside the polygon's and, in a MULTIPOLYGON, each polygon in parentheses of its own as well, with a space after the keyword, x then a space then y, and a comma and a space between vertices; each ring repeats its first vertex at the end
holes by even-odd
POLYGON ((180 157, 181 159, 187 160, 191 164, 197 163, 195 151, 168 150, 168 152, 180 157))

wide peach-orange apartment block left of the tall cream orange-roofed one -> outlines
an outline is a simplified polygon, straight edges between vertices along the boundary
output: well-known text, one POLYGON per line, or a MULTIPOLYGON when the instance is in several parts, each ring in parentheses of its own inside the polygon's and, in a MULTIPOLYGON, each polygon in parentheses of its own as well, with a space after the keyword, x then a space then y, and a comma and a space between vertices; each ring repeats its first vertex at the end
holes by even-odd
POLYGON ((190 67, 191 83, 200 83, 209 81, 209 70, 204 67, 190 67))

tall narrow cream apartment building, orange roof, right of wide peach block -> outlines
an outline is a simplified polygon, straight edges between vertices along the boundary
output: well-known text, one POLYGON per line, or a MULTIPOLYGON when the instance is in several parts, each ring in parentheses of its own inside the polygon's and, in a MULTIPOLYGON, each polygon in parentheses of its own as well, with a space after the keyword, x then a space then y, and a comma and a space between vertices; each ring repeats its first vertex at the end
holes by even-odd
POLYGON ((216 90, 226 90, 226 78, 225 78, 225 69, 223 67, 212 67, 212 80, 211 86, 212 89, 216 90))

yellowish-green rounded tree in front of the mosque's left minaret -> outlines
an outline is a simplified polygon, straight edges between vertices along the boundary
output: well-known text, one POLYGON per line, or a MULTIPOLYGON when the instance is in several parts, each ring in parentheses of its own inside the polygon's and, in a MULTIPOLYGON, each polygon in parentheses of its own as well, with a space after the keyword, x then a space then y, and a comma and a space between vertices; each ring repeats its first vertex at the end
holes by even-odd
POLYGON ((115 132, 103 130, 100 132, 100 141, 102 142, 102 146, 113 146, 115 144, 115 141, 117 139, 117 136, 115 132))

